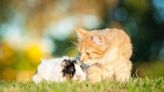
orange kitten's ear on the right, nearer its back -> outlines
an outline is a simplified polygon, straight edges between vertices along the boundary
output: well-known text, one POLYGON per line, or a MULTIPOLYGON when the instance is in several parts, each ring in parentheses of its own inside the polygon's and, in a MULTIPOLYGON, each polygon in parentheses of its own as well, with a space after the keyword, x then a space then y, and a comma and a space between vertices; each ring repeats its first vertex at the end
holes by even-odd
POLYGON ((91 36, 91 40, 96 43, 97 45, 103 45, 104 44, 104 39, 102 36, 99 35, 93 35, 91 36))

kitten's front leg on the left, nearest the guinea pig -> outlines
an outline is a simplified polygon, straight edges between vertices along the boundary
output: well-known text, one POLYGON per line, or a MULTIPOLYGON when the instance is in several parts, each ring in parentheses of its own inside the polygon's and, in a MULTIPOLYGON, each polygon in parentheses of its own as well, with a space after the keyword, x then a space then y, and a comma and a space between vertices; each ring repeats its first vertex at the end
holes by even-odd
POLYGON ((100 82, 102 80, 101 75, 101 68, 96 65, 87 69, 87 80, 91 82, 100 82))

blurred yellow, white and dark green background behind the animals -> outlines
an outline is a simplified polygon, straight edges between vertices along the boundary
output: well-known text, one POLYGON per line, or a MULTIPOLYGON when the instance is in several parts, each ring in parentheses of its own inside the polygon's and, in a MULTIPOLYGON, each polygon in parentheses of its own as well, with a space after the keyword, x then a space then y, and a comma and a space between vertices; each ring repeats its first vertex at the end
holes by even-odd
POLYGON ((164 0, 0 0, 0 80, 31 80, 41 58, 76 57, 76 26, 123 28, 133 74, 164 76, 164 0))

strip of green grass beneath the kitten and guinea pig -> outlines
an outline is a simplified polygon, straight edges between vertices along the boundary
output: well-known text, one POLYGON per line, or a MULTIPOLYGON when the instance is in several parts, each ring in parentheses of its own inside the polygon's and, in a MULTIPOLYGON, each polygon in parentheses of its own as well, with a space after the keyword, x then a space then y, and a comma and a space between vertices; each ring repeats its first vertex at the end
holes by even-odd
POLYGON ((132 78, 129 82, 100 83, 67 81, 63 83, 0 81, 0 92, 164 92, 164 78, 132 78))

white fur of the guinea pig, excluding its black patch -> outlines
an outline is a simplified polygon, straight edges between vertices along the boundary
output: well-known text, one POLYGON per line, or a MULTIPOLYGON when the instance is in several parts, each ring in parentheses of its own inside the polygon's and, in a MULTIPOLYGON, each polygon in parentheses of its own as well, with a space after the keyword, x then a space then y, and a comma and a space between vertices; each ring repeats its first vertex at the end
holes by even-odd
MULTIPOLYGON (((63 66, 61 65, 64 59, 73 60, 72 58, 67 57, 67 56, 55 58, 55 59, 49 59, 49 60, 42 60, 37 68, 37 73, 33 76, 32 80, 35 83, 39 83, 43 80, 52 81, 52 82, 65 81, 66 78, 63 76, 63 72, 62 72, 63 66)), ((75 64, 75 70, 76 70, 75 75, 73 76, 74 80, 86 79, 86 73, 83 72, 82 68, 80 67, 78 63, 75 64), (80 79, 79 79, 79 76, 80 76, 80 79)))

